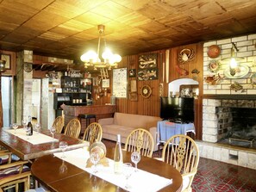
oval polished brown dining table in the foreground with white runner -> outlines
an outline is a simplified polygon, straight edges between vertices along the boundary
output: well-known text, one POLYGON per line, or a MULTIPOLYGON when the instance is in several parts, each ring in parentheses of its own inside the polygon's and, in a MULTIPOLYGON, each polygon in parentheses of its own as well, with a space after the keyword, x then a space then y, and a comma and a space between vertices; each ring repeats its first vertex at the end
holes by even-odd
MULTIPOLYGON (((134 185, 130 190, 123 187, 122 175, 116 175, 114 170, 111 171, 112 168, 109 170, 108 166, 105 168, 105 165, 97 165, 100 167, 97 168, 97 173, 90 170, 92 168, 87 168, 90 163, 88 163, 88 160, 84 160, 84 156, 88 152, 86 152, 86 149, 80 152, 78 150, 69 151, 69 154, 73 152, 72 158, 69 158, 69 160, 67 160, 69 154, 66 154, 66 158, 61 158, 60 153, 37 158, 31 166, 32 175, 44 188, 53 192, 174 192, 182 190, 183 179, 179 171, 158 159, 141 156, 138 172, 134 171, 130 177, 130 179, 134 178, 132 179, 134 185), (72 159, 72 162, 70 159, 72 159), (104 169, 108 171, 104 171, 104 169), (113 177, 112 180, 111 177, 113 177), (159 188, 155 188, 156 186, 159 188)), ((108 147, 105 158, 109 160, 109 164, 113 161, 114 154, 115 148, 108 147)), ((131 162, 131 152, 122 151, 122 155, 124 163, 131 162)), ((111 167, 111 165, 109 166, 111 167)))

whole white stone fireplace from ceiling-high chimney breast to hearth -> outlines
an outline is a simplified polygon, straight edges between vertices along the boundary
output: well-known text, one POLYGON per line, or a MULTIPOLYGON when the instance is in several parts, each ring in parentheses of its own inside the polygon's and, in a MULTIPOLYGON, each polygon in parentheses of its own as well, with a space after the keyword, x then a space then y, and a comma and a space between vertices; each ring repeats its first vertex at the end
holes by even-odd
POLYGON ((197 141, 200 157, 256 170, 256 34, 210 40, 203 44, 203 78, 222 77, 216 84, 203 81, 203 133, 197 141), (243 58, 240 65, 248 71, 242 76, 228 77, 232 45, 238 47, 235 56, 243 58), (217 45, 220 55, 210 58, 209 46, 217 45), (210 63, 220 62, 216 71, 210 63), (255 83, 255 84, 254 84, 255 83), (234 89, 234 87, 240 89, 234 89), (247 114, 249 112, 249 114, 247 114))

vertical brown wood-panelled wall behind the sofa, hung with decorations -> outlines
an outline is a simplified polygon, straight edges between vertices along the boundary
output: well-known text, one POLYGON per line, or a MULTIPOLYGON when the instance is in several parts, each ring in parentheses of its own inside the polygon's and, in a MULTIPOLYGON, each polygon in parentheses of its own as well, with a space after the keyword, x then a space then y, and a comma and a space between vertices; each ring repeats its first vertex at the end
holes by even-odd
MULTIPOLYGON (((202 96, 203 96, 203 43, 191 44, 187 46, 177 46, 169 49, 170 51, 170 64, 169 64, 169 80, 166 83, 166 77, 163 79, 163 62, 165 62, 165 50, 159 50, 152 53, 159 53, 158 58, 158 79, 140 81, 136 77, 128 77, 128 90, 130 86, 130 81, 133 79, 137 80, 137 101, 131 101, 129 99, 129 91, 127 98, 117 98, 116 105, 117 111, 128 114, 137 114, 137 115, 153 115, 159 116, 160 112, 160 100, 159 100, 159 85, 163 84, 162 96, 168 96, 168 84, 175 79, 179 78, 193 78, 199 83, 199 96, 195 100, 195 127, 196 127, 196 139, 202 139, 202 96), (189 74, 182 76, 178 73, 176 65, 178 65, 178 55, 183 49, 193 49, 195 52, 195 58, 190 62, 179 65, 181 68, 184 68, 186 71, 189 71, 189 74), (194 69, 199 71, 198 74, 192 73, 194 69), (144 98, 140 94, 141 87, 143 85, 148 85, 152 88, 152 95, 149 98, 144 98)), ((146 53, 141 53, 146 54, 146 53)), ((139 69, 139 55, 129 55, 122 58, 122 62, 118 65, 118 68, 127 67, 128 70, 136 69, 138 73, 139 69)), ((112 83, 112 74, 109 71, 110 77, 110 90, 111 93, 111 83, 112 83)), ((100 99, 97 99, 95 104, 104 104, 110 102, 110 93, 108 96, 103 96, 100 99)))

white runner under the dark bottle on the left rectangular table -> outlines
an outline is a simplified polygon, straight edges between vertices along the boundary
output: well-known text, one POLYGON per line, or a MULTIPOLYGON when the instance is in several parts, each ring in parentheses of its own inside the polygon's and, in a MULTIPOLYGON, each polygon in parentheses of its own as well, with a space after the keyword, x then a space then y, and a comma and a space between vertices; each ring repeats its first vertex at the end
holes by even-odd
POLYGON ((29 143, 33 145, 39 145, 42 143, 50 143, 50 142, 59 142, 59 139, 53 139, 52 137, 49 137, 42 133, 34 132, 33 135, 27 136, 26 131, 23 128, 16 129, 16 133, 14 129, 6 129, 5 130, 8 133, 16 135, 16 137, 19 137, 23 140, 27 140, 29 143))

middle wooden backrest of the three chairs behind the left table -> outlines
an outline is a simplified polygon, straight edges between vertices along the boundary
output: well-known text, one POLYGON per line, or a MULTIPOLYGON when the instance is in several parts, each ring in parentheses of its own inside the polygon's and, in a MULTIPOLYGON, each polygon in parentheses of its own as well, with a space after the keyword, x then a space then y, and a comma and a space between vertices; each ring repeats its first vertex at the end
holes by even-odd
POLYGON ((77 118, 74 118, 67 123, 64 134, 78 139, 80 132, 81 123, 77 118))

